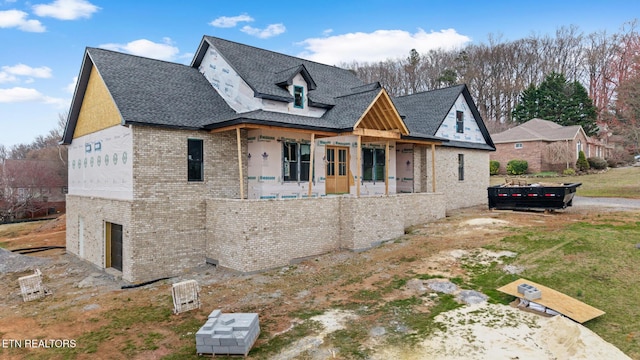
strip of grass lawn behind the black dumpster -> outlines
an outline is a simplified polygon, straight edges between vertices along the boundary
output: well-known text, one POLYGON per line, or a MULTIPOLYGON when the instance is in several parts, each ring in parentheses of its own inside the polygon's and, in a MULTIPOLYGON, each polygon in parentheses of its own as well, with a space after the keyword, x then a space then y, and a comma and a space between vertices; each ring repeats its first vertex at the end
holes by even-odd
MULTIPOLYGON (((491 185, 503 184, 505 175, 491 177, 491 185)), ((600 174, 531 177, 530 182, 582 183, 576 195, 591 197, 621 197, 640 199, 640 166, 609 169, 600 174)))

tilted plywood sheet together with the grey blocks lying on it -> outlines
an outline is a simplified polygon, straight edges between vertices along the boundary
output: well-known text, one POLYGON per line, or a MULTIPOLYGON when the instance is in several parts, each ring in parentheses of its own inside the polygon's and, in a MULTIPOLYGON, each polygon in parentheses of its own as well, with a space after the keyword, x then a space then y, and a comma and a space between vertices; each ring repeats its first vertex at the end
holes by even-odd
POLYGON ((582 301, 525 279, 518 279, 498 291, 519 298, 519 307, 548 315, 564 315, 581 324, 604 314, 582 301))

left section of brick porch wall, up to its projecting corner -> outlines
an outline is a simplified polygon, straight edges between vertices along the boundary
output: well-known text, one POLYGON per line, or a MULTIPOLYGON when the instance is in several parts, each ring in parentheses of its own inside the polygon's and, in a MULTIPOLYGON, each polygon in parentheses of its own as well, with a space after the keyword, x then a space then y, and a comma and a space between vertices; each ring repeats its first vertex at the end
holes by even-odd
POLYGON ((253 272, 340 248, 340 199, 207 200, 206 256, 253 272))

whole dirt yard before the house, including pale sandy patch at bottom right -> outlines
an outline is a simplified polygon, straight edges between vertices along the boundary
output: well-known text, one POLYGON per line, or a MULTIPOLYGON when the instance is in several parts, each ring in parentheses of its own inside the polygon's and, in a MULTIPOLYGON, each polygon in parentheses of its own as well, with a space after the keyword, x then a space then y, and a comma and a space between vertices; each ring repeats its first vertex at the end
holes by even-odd
MULTIPOLYGON (((626 358, 572 321, 550 320, 482 301, 440 314, 434 321, 451 326, 420 339, 408 350, 385 341, 410 333, 398 320, 400 315, 368 311, 376 303, 399 304, 418 298, 421 300, 416 308, 428 314, 435 304, 430 299, 437 296, 430 288, 431 280, 400 280, 411 274, 429 274, 436 281, 465 278, 463 258, 482 264, 510 256, 482 249, 509 235, 510 229, 541 224, 560 227, 589 216, 580 208, 555 214, 470 208, 410 229, 406 236, 362 253, 335 252, 254 275, 203 265, 180 277, 134 289, 121 289, 124 283, 61 249, 14 256, 10 261, 5 256, 0 258, 4 262, 0 264, 0 357, 194 357, 195 331, 209 312, 222 309, 259 313, 262 335, 255 345, 259 351, 250 353, 249 358, 358 358, 362 349, 372 359, 587 359, 588 354, 626 358), (32 274, 35 267, 42 271, 52 294, 25 303, 18 278, 32 274), (173 315, 171 283, 186 279, 200 284, 203 306, 173 315), (474 318, 478 313, 484 314, 484 320, 474 318), (304 319, 321 326, 294 336, 295 331, 301 331, 297 325, 304 319), (496 326, 496 322, 502 325, 496 326), (362 331, 354 335, 344 330, 349 323, 360 324, 362 331), (547 334, 546 339, 543 334, 547 334), (282 335, 287 341, 274 340, 282 335), (356 339, 358 344, 351 346, 357 351, 349 353, 348 344, 340 347, 341 338, 356 339), (37 348, 11 345, 16 340, 24 345, 25 339, 43 341, 37 348), (61 345, 63 340, 67 345, 61 345)), ((8 250, 65 243, 64 216, 26 228, 11 226, 16 226, 15 231, 5 231, 6 235, 0 237, 8 250)))

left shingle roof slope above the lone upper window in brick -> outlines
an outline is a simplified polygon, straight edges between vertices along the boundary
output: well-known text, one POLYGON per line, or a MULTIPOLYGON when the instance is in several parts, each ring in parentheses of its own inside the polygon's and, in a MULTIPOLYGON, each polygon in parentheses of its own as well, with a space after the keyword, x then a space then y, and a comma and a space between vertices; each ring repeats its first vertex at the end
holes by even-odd
POLYGON ((87 54, 125 123, 198 129, 234 113, 197 69, 97 48, 87 54))

